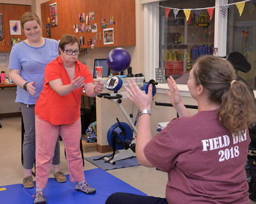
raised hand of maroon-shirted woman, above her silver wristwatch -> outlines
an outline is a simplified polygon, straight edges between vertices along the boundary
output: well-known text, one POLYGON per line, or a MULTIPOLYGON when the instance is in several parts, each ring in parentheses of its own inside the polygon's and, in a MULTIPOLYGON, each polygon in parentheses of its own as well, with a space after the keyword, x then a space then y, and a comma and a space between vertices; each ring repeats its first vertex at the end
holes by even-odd
POLYGON ((143 91, 141 91, 133 79, 132 82, 129 80, 127 80, 127 82, 129 87, 124 85, 125 90, 128 92, 125 93, 127 98, 131 99, 131 101, 139 108, 139 110, 150 110, 152 103, 152 84, 148 85, 148 94, 145 94, 143 91))

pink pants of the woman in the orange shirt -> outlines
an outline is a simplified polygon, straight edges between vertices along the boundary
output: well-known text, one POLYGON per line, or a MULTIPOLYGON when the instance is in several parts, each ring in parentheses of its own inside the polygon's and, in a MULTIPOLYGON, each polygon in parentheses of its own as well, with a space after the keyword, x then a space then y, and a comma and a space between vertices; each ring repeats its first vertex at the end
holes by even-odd
POLYGON ((70 180, 84 180, 83 160, 80 151, 81 119, 68 125, 54 126, 35 117, 36 127, 36 187, 44 189, 51 170, 54 149, 60 131, 65 145, 70 180))

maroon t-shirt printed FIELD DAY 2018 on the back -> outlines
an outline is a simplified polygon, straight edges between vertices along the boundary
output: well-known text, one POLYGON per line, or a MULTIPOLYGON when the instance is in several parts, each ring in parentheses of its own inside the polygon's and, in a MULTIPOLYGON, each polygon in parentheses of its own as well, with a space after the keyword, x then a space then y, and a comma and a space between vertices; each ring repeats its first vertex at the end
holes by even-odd
POLYGON ((249 143, 248 128, 232 136, 212 110, 173 119, 144 153, 156 168, 168 172, 168 203, 246 204, 249 143))

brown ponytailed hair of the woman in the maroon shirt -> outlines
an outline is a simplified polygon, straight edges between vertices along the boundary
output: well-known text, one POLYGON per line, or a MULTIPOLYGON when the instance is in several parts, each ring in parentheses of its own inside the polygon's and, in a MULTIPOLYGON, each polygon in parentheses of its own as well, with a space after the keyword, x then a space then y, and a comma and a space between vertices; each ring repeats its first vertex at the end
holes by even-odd
POLYGON ((218 103, 218 118, 231 133, 252 128, 256 122, 255 99, 243 81, 235 81, 235 70, 225 59, 205 55, 194 66, 196 85, 202 85, 209 99, 218 103), (232 82, 232 83, 231 83, 232 82))

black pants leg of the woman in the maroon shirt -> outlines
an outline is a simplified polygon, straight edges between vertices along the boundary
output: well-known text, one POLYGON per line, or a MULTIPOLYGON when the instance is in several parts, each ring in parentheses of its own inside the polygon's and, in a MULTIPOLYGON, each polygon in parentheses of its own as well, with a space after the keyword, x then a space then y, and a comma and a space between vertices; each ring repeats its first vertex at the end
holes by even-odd
POLYGON ((153 196, 141 196, 131 193, 113 193, 106 200, 105 204, 168 204, 166 198, 153 196))

